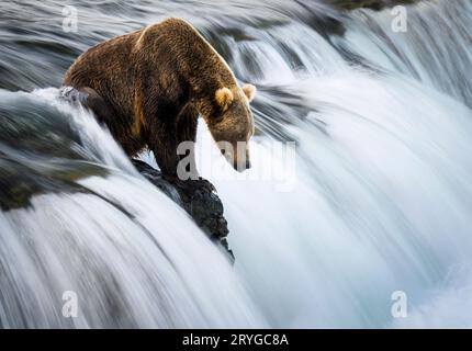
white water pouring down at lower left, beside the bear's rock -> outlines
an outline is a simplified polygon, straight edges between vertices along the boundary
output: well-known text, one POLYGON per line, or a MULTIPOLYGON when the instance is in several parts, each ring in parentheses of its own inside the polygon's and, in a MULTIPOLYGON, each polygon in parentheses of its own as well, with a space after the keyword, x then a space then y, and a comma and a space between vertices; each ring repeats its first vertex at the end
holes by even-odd
MULTIPOLYGON (((57 105, 52 92, 36 94, 57 105)), ((2 327, 265 325, 226 258, 188 215, 133 170, 92 115, 59 109, 70 112, 85 152, 111 174, 79 181, 101 197, 36 195, 30 208, 1 214, 2 327), (77 318, 63 316, 69 291, 77 318)))

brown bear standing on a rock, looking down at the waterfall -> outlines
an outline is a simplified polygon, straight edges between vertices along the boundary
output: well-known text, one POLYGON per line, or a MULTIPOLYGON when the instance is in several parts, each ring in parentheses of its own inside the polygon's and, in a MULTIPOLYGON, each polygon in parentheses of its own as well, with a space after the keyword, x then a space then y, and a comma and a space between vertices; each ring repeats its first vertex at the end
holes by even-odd
POLYGON ((240 88, 225 60, 181 19, 91 47, 70 66, 64 84, 86 97, 85 104, 127 155, 148 147, 169 178, 177 176, 178 145, 195 140, 199 115, 215 141, 233 146, 233 152, 222 149, 232 166, 239 171, 250 167, 249 101, 256 88, 240 88), (238 141, 246 147, 237 147, 238 141))

